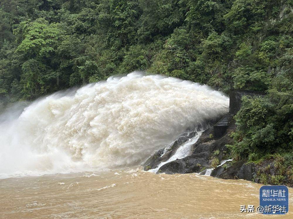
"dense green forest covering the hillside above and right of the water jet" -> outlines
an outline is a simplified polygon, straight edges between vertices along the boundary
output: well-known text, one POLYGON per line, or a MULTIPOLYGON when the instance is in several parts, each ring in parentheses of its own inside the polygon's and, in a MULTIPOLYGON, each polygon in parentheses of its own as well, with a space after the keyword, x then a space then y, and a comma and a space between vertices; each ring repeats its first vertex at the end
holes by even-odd
POLYGON ((263 180, 279 184, 293 180, 292 32, 293 0, 0 0, 0 108, 133 70, 263 91, 228 147, 275 159, 263 180))

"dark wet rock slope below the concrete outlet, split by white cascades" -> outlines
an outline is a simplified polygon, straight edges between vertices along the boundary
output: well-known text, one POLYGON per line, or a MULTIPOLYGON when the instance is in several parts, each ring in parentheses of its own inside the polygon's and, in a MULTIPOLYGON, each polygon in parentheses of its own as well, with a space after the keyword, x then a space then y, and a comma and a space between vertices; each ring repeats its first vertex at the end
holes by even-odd
MULTIPOLYGON (((205 169, 215 167, 211 172, 211 176, 223 179, 252 180, 255 174, 255 166, 253 164, 246 164, 246 161, 229 161, 226 164, 219 166, 221 161, 229 158, 228 150, 225 145, 232 143, 229 134, 234 129, 235 123, 232 120, 224 135, 220 138, 214 138, 213 128, 207 128, 197 142, 191 145, 191 153, 189 156, 164 164, 159 168, 157 173, 205 174, 205 169)), ((156 152, 145 162, 144 170, 157 168, 161 162, 167 161, 172 154, 176 152, 178 147, 193 135, 194 133, 189 136, 178 138, 165 154, 163 154, 163 149, 156 152)))

